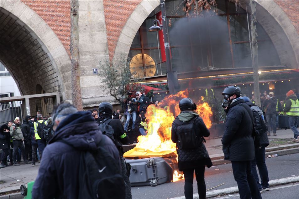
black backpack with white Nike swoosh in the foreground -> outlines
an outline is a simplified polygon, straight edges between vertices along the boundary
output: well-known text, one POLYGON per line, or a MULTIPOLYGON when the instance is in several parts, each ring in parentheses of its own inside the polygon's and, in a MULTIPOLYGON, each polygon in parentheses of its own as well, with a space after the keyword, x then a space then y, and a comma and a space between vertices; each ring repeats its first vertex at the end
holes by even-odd
MULTIPOLYGON (((108 151, 103 148, 105 139, 106 136, 103 135, 97 150, 81 151, 78 172, 78 198, 125 198, 125 183, 121 175, 120 166, 108 151)), ((70 145, 65 140, 58 141, 70 145)), ((93 139, 87 140, 87 142, 93 141, 93 139)))

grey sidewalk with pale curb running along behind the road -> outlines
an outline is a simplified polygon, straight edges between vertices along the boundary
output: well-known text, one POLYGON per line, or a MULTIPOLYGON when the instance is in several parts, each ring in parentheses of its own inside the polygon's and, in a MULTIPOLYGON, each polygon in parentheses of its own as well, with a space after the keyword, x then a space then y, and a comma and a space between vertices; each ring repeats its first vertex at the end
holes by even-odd
MULTIPOLYGON (((277 136, 269 136, 271 142, 272 139, 293 139, 293 132, 291 129, 277 130, 277 136)), ((207 140, 205 143, 207 151, 213 161, 213 165, 220 165, 229 163, 229 161, 223 160, 223 152, 221 145, 221 138, 207 140)), ((299 152, 299 143, 293 143, 288 145, 281 145, 276 147, 266 147, 266 156, 272 154, 286 155, 299 152)), ((1 169, 0 172, 0 192, 18 191, 22 184, 34 181, 39 169, 39 164, 35 167, 29 165, 21 166, 9 166, 1 169)))

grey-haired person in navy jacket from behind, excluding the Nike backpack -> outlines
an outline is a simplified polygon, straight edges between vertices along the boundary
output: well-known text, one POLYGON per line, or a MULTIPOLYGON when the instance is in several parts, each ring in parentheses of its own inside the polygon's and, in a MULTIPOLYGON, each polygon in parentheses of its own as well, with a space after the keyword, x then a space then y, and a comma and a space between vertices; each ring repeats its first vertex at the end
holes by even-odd
POLYGON ((81 151, 96 150, 105 139, 102 147, 120 170, 118 151, 113 142, 102 135, 90 112, 78 111, 73 105, 63 103, 54 113, 55 135, 43 152, 32 198, 79 198, 81 151))

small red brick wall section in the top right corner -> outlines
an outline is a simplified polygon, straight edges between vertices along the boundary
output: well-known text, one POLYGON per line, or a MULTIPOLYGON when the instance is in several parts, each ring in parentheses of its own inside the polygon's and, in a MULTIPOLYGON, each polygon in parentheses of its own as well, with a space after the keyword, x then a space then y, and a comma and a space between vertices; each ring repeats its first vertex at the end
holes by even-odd
POLYGON ((294 0, 275 0, 281 9, 290 18, 292 24, 299 33, 299 1, 294 0))

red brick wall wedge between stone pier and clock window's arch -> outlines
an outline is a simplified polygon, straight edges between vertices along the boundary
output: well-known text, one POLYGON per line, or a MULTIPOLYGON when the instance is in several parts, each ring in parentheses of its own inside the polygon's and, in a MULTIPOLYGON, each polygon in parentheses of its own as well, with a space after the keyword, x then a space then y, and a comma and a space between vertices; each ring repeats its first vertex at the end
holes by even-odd
POLYGON ((140 2, 141 0, 103 1, 110 60, 113 59, 115 47, 123 26, 140 2))

